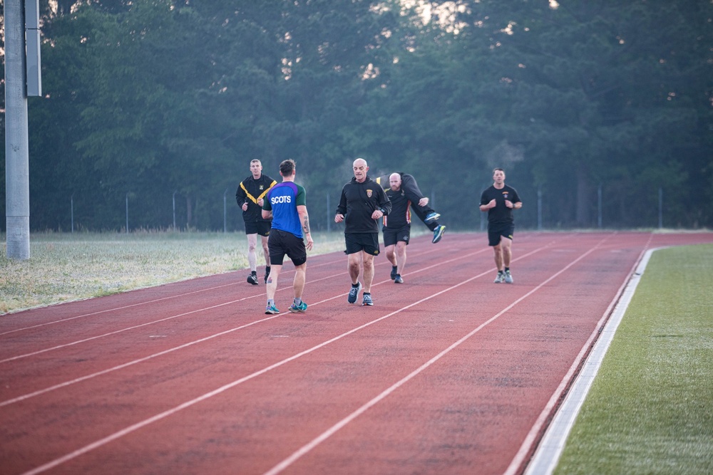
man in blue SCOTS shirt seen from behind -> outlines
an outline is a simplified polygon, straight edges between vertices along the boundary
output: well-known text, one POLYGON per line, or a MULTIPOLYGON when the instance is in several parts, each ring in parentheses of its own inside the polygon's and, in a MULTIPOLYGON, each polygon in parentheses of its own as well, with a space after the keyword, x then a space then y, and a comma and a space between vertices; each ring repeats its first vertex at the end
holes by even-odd
POLYGON ((314 241, 309 231, 304 188, 294 183, 294 173, 294 160, 284 160, 279 164, 282 183, 270 189, 262 204, 262 217, 272 218, 272 231, 267 239, 271 263, 270 275, 267 276, 267 314, 279 313, 275 306, 275 291, 285 255, 294 264, 294 301, 288 310, 292 313, 307 310, 307 303, 302 301, 302 291, 307 278, 307 250, 312 249, 314 241), (307 244, 304 244, 303 239, 307 239, 307 244))

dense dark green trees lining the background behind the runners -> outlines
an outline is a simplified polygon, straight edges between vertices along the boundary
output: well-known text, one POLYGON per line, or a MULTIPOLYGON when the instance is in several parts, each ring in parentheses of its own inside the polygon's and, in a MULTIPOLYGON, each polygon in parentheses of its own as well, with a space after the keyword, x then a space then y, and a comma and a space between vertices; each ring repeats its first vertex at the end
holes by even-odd
POLYGON ((127 214, 130 229, 168 229, 174 213, 180 229, 242 229, 253 158, 278 181, 294 159, 326 229, 356 157, 372 176, 413 174, 451 229, 478 229, 496 166, 520 226, 713 227, 707 0, 41 9, 33 231, 122 230, 127 214))

